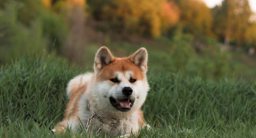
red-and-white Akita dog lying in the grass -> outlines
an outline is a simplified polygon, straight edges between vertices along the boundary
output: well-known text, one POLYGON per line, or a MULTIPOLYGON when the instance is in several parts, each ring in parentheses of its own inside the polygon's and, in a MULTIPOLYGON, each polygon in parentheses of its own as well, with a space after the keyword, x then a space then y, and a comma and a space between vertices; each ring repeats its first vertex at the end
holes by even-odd
POLYGON ((64 133, 67 127, 78 131, 83 125, 89 135, 138 133, 146 126, 140 110, 149 90, 146 71, 145 48, 116 58, 108 48, 101 47, 95 55, 94 73, 79 75, 68 83, 70 100, 65 117, 53 131, 64 133))

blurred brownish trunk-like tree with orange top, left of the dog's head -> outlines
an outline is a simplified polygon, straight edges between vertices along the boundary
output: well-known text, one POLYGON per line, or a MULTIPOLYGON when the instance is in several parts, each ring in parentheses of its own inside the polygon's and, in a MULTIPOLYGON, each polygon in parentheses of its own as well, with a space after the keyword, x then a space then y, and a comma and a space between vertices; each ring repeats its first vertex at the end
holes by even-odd
POLYGON ((65 18, 71 30, 64 48, 64 56, 69 61, 80 61, 80 54, 86 45, 85 33, 86 0, 59 0, 53 5, 53 10, 65 18))

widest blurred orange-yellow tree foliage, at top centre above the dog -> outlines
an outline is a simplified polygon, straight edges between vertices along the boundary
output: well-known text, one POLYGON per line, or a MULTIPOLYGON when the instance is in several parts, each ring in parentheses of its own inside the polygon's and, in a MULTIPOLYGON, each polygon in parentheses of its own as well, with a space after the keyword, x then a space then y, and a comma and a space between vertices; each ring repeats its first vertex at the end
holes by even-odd
POLYGON ((167 0, 88 0, 96 20, 106 21, 120 33, 159 37, 179 20, 180 11, 167 0))

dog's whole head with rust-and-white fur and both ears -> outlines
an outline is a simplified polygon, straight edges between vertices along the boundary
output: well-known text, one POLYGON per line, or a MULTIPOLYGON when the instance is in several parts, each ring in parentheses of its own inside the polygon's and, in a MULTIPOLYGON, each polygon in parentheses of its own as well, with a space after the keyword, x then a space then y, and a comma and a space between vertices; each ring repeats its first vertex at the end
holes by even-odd
POLYGON ((138 110, 149 90, 146 71, 145 48, 125 58, 113 57, 108 48, 100 48, 94 62, 93 95, 97 105, 104 110, 138 110))

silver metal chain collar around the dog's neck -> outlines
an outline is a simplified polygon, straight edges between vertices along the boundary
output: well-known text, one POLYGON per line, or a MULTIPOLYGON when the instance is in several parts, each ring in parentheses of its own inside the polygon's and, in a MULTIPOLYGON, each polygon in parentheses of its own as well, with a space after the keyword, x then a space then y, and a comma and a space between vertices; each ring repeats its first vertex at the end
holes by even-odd
MULTIPOLYGON (((98 136, 98 135, 101 133, 101 130, 102 130, 103 126, 104 126, 104 123, 107 124, 107 125, 110 125, 110 126, 114 126, 114 125, 122 125, 122 124, 124 124, 126 121, 129 120, 129 119, 126 119, 126 117, 125 117, 125 118, 120 118, 120 119, 114 119, 114 118, 105 119, 105 118, 99 117, 98 115, 96 115, 96 114, 94 113, 93 110, 91 110, 91 106, 92 106, 92 105, 91 105, 91 100, 89 100, 88 109, 90 110, 91 113, 93 113, 93 115, 91 115, 91 117, 88 118, 88 120, 87 120, 86 129, 85 129, 87 134, 88 134, 87 131, 88 131, 89 125, 91 124, 91 120, 93 119, 93 117, 99 119, 99 121, 100 121, 100 123, 101 123, 101 126, 99 127, 99 129, 98 129, 97 132, 96 132, 96 136, 98 136), (120 120, 124 120, 124 122, 123 122, 123 123, 120 123, 120 120), (109 123, 109 121, 110 121, 110 123, 109 123)), ((82 135, 82 134, 81 134, 81 135, 82 135)))

